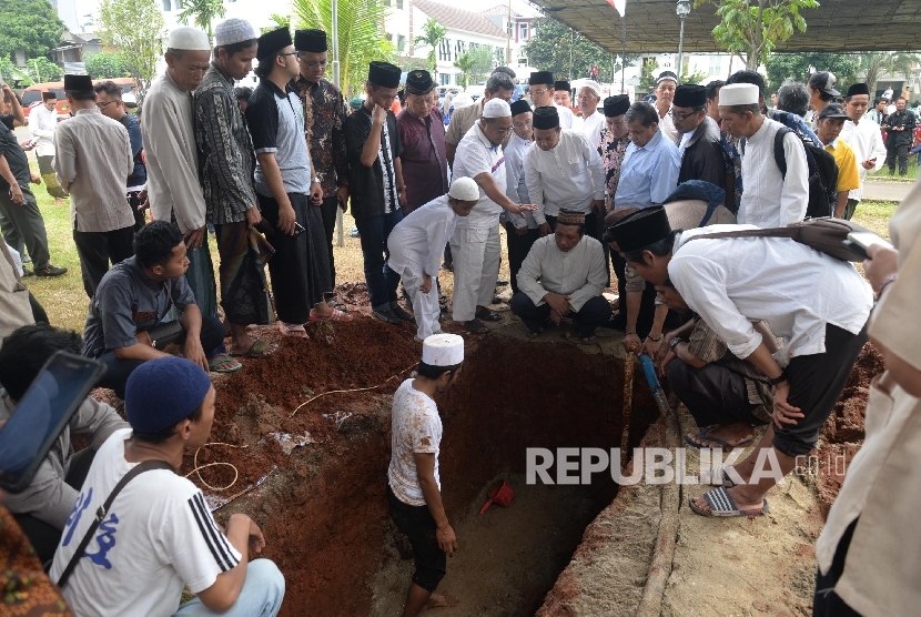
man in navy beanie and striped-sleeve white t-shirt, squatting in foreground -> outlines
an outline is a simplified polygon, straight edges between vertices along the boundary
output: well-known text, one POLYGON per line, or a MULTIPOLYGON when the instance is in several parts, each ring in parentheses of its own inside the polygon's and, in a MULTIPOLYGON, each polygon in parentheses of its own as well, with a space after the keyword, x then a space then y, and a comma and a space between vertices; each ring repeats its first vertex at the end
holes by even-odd
POLYGON ((265 547, 262 530, 245 514, 231 515, 220 528, 202 492, 175 473, 186 452, 209 442, 215 398, 208 374, 181 357, 145 362, 129 377, 131 428, 112 433, 97 452, 49 573, 78 617, 279 613, 284 577, 269 559, 246 558, 265 547), (103 520, 81 547, 95 513, 139 464, 148 468, 102 510, 103 520), (62 583, 78 548, 82 553, 62 583), (180 607, 185 586, 195 597, 180 607))

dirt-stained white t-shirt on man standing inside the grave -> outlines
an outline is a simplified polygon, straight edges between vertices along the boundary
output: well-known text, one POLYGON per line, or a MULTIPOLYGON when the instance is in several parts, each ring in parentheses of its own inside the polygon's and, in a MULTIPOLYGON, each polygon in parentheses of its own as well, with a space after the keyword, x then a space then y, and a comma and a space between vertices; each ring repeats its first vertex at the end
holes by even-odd
POLYGON ((438 477, 438 446, 442 443, 442 418, 438 406, 406 380, 393 395, 393 437, 387 479, 396 498, 411 506, 424 506, 425 497, 416 472, 416 453, 435 454, 435 483, 438 477))

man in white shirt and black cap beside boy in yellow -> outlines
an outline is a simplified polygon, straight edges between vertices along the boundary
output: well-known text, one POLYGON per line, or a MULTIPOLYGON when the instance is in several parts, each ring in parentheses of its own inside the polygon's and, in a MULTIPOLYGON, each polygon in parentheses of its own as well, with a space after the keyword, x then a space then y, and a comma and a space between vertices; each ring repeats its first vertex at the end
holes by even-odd
POLYGON ((870 89, 866 83, 854 83, 848 88, 848 95, 844 97, 848 120, 844 121, 839 139, 853 150, 857 158, 857 175, 860 179, 860 188, 848 193, 848 205, 844 208, 844 219, 848 220, 853 216, 857 204, 863 198, 867 174, 881 170, 885 163, 885 144, 879 124, 871 121, 867 114, 869 107, 870 89))

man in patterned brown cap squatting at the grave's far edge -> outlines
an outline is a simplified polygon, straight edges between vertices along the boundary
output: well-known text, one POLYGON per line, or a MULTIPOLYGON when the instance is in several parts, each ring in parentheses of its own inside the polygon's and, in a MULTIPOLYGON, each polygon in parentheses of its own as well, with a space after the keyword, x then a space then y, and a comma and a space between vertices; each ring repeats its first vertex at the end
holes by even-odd
POLYGON ((608 283, 601 243, 585 235, 585 214, 560 210, 553 235, 538 239, 522 270, 512 296, 512 312, 522 317, 528 335, 571 317, 579 341, 595 341, 595 328, 610 318, 601 295, 608 283))

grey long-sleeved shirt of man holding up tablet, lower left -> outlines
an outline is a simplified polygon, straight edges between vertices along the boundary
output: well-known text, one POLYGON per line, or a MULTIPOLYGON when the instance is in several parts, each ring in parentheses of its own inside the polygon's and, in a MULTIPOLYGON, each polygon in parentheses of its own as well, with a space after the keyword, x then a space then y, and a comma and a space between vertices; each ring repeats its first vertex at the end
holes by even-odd
MULTIPOLYGON (((9 419, 14 408, 7 392, 0 391, 0 422, 9 419)), ((114 408, 88 396, 44 455, 26 490, 7 494, 3 505, 13 514, 29 514, 57 529, 63 529, 79 493, 64 482, 74 454, 71 434, 85 435, 90 447, 99 448, 112 433, 128 427, 114 408)))

